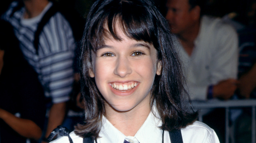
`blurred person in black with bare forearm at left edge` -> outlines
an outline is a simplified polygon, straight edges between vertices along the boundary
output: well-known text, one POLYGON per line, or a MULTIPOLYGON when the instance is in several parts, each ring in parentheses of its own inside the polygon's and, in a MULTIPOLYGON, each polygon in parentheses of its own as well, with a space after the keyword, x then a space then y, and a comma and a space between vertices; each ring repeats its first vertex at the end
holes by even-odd
POLYGON ((34 143, 46 112, 37 73, 23 57, 12 26, 0 21, 0 142, 34 143))

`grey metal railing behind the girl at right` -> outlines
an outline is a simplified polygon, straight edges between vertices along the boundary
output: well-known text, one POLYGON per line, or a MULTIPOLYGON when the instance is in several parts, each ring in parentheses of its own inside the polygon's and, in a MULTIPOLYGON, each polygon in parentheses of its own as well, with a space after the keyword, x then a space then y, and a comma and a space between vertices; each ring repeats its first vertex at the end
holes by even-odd
MULTIPOLYGON (((207 110, 207 109, 215 109, 215 108, 225 108, 225 143, 229 142, 229 111, 230 108, 244 108, 251 107, 252 108, 252 143, 256 143, 256 124, 255 124, 255 107, 256 100, 255 99, 245 99, 245 100, 209 100, 209 101, 192 101, 195 109, 207 110)), ((199 121, 203 121, 203 113, 199 113, 199 121)))

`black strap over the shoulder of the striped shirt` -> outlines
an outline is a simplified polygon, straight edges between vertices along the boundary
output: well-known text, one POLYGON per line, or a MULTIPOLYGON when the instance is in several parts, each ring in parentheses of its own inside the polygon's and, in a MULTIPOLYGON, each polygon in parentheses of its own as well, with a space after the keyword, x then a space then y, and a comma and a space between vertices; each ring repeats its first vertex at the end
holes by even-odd
POLYGON ((48 11, 44 14, 41 21, 37 26, 37 30, 34 35, 34 48, 36 50, 36 54, 38 55, 38 44, 39 44, 39 35, 41 34, 45 24, 47 24, 50 18, 58 11, 57 6, 53 3, 52 7, 48 9, 48 11))

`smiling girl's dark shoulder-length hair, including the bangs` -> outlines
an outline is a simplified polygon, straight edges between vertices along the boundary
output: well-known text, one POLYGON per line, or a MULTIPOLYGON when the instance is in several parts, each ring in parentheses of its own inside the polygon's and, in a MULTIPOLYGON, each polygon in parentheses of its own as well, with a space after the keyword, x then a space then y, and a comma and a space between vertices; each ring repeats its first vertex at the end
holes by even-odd
POLYGON ((181 64, 173 46, 169 26, 150 0, 97 0, 85 25, 80 49, 81 90, 85 101, 85 121, 75 127, 79 136, 98 137, 105 113, 105 101, 98 91, 92 70, 92 56, 96 48, 104 44, 104 38, 112 36, 122 40, 117 33, 121 27, 131 39, 154 45, 161 61, 161 74, 155 76, 151 90, 151 108, 155 104, 162 120, 160 128, 178 130, 197 118, 183 87, 181 64))

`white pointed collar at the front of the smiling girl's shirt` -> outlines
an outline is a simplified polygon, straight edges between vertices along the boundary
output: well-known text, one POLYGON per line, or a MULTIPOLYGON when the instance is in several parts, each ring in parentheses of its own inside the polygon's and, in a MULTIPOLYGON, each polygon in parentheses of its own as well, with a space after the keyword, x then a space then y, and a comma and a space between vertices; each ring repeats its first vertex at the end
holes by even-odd
MULTIPOLYGON (((158 114, 155 114, 158 116, 158 114)), ((99 132, 98 143, 123 143, 124 139, 133 140, 134 143, 159 142, 162 137, 162 130, 159 128, 162 124, 161 120, 155 116, 152 111, 142 124, 135 136, 125 136, 117 128, 115 128, 105 117, 103 125, 99 132)), ((131 141, 130 140, 130 141, 131 141)))

